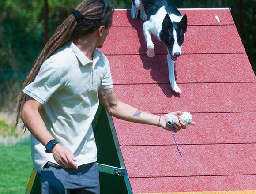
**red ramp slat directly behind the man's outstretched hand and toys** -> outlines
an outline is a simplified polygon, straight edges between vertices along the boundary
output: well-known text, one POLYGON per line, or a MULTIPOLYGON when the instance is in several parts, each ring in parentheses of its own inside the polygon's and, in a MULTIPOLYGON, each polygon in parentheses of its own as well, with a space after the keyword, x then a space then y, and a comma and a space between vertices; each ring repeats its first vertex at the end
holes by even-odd
MULTIPOLYGON (((255 118, 256 112, 193 114, 197 125, 179 131, 177 141, 180 145, 256 143, 255 118)), ((170 131, 119 119, 113 120, 121 146, 174 145, 170 131)))

